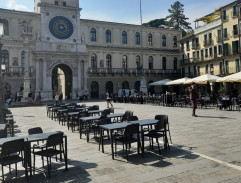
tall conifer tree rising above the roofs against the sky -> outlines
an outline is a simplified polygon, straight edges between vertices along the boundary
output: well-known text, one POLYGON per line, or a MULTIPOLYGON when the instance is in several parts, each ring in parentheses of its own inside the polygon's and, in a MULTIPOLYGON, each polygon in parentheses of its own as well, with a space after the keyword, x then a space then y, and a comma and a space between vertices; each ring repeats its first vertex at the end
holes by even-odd
POLYGON ((166 18, 168 20, 168 26, 177 30, 182 30, 185 35, 186 32, 192 31, 191 23, 187 22, 189 18, 184 15, 184 5, 179 1, 176 1, 171 5, 171 9, 168 9, 170 15, 166 18))

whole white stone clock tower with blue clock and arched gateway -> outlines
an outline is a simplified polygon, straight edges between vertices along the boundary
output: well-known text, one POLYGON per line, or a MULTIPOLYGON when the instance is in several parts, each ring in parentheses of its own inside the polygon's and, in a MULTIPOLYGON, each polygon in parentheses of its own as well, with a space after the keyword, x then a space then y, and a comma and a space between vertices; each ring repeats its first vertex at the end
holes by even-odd
POLYGON ((35 0, 35 12, 41 16, 36 36, 36 93, 51 99, 58 92, 76 99, 87 90, 86 45, 80 34, 79 0, 35 0), (53 77, 64 73, 64 80, 53 77), (61 71, 60 71, 61 70, 61 71), (56 74, 55 74, 56 75, 56 74), (60 88, 61 87, 61 88, 60 88), (56 89, 57 88, 57 89, 56 89))

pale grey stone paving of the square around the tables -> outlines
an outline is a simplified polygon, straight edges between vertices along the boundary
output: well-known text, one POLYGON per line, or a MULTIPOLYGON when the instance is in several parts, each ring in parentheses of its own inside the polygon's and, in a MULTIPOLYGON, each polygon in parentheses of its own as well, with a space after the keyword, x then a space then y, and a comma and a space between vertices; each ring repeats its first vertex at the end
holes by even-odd
MULTIPOLYGON (((106 108, 103 101, 86 104, 106 108)), ((78 132, 47 118, 44 106, 12 108, 17 136, 27 135, 27 130, 36 126, 44 132, 61 130, 68 136, 69 170, 65 171, 64 163, 53 159, 49 179, 38 157, 39 170, 29 182, 241 182, 241 112, 198 109, 199 117, 194 118, 190 108, 122 103, 114 103, 114 108, 115 113, 133 110, 139 119, 167 114, 173 141, 171 151, 162 150, 159 155, 157 147, 150 149, 147 140, 144 157, 136 153, 133 145, 127 161, 118 145, 118 156, 112 160, 109 144, 105 145, 105 153, 100 152, 93 136, 89 143, 85 135, 80 139, 78 132)), ((20 164, 18 167, 19 176, 8 174, 6 182, 27 182, 23 168, 20 164)))

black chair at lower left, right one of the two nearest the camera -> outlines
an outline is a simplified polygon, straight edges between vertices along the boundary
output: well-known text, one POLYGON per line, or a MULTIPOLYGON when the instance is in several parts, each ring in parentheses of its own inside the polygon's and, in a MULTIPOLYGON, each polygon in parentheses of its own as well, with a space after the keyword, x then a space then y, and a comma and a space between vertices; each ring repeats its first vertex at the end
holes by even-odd
MULTIPOLYGON (((51 171, 51 158, 53 156, 60 155, 60 160, 62 161, 62 154, 65 156, 64 147, 63 147, 63 132, 59 132, 56 134, 52 134, 48 137, 46 144, 40 146, 34 146, 33 148, 33 155, 34 155, 34 166, 33 172, 35 173, 35 156, 39 155, 41 157, 47 158, 47 166, 48 166, 48 175, 50 177, 51 171), (57 149, 57 147, 59 148, 57 149), (43 148, 43 150, 35 152, 35 148, 43 148)), ((42 158, 43 161, 43 158, 42 158)))

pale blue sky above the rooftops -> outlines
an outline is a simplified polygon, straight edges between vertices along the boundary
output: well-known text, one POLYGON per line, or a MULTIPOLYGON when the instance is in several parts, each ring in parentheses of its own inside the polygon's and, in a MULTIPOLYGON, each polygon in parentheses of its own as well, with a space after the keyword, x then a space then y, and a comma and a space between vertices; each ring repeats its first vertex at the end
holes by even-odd
MULTIPOLYGON (((143 23, 168 15, 168 9, 176 0, 142 0, 143 23)), ((66 0, 68 3, 68 0, 66 0)), ((140 24, 140 0, 79 0, 81 18, 140 24)), ((184 13, 193 20, 202 17, 232 0, 180 0, 184 13)), ((34 0, 0 0, 0 8, 34 11, 34 0)))

